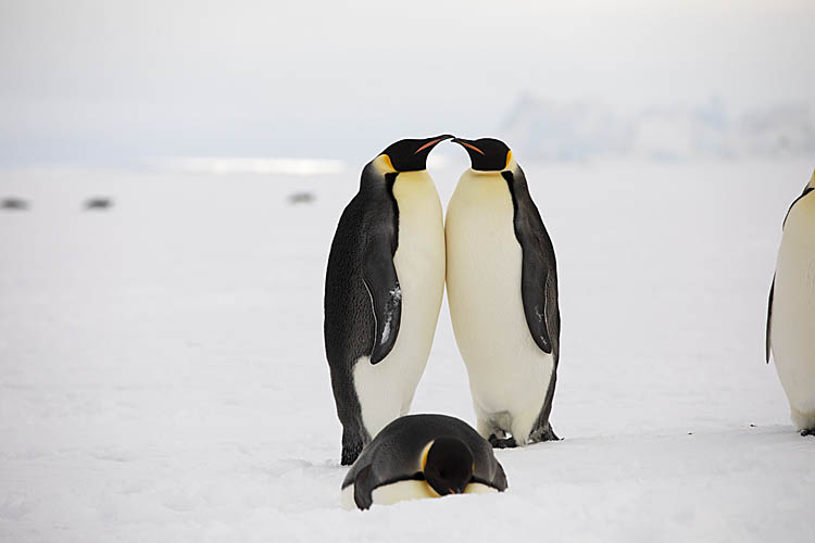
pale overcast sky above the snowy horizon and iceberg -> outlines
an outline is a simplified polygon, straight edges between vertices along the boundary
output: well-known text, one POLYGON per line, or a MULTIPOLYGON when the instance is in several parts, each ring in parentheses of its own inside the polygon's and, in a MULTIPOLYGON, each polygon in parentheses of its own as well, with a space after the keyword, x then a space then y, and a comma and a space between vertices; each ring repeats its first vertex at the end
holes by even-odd
POLYGON ((0 165, 367 160, 522 92, 815 106, 815 2, 0 0, 0 165))

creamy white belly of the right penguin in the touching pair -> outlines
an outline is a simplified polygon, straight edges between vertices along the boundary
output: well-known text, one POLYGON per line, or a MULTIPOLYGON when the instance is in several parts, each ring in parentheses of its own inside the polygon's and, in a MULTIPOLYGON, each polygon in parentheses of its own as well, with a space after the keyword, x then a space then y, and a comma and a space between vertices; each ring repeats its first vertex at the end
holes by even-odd
MULTIPOLYGON (((543 406, 554 361, 526 323, 513 218, 512 195, 499 174, 462 176, 448 206, 447 288, 476 413, 523 444, 543 406)), ((479 431, 489 431, 481 420, 479 431)))

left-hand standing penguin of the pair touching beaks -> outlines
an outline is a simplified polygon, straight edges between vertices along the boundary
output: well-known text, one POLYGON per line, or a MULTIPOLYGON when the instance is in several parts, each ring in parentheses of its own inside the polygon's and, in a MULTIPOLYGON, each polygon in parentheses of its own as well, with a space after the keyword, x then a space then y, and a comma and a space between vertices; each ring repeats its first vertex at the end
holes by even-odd
POLYGON ((403 139, 362 171, 337 225, 325 281, 325 350, 342 465, 408 413, 444 290, 444 227, 427 155, 452 136, 403 139))

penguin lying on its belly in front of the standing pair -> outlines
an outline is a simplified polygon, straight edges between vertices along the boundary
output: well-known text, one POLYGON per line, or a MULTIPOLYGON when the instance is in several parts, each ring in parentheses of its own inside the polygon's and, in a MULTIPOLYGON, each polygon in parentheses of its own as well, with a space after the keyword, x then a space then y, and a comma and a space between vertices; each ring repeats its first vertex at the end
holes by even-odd
POLYGON ((368 509, 404 500, 506 490, 492 446, 446 415, 398 418, 362 452, 342 481, 342 506, 368 509))

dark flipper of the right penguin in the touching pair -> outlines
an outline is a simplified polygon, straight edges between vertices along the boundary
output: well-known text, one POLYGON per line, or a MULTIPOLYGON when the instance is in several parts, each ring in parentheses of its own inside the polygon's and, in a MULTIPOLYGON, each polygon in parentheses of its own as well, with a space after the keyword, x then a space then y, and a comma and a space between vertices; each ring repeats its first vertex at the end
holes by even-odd
POLYGON ((521 293, 524 314, 535 343, 547 354, 554 352, 557 362, 561 314, 557 305, 557 272, 552 240, 538 207, 529 195, 526 176, 518 166, 502 172, 515 206, 515 238, 523 252, 521 293))

